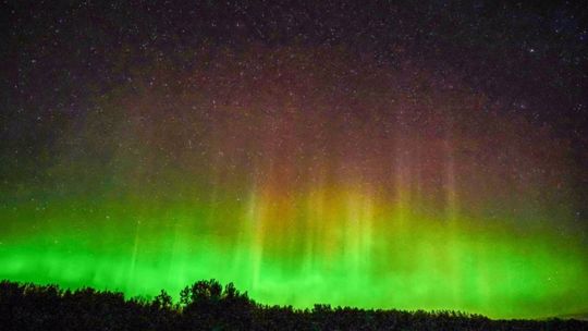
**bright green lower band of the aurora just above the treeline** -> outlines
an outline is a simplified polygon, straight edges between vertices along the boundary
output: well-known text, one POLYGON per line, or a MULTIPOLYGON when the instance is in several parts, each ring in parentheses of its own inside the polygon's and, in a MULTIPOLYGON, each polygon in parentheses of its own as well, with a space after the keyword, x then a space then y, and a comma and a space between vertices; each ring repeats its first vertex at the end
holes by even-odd
MULTIPOLYGON (((140 217, 132 212, 136 206, 110 206, 94 216, 64 214, 59 204, 23 213, 26 208, 2 214, 46 222, 26 236, 4 232, 1 278, 127 295, 155 295, 161 289, 177 294, 194 280, 216 278, 261 303, 460 309, 491 317, 577 311, 588 294, 580 285, 588 274, 585 248, 549 232, 506 233, 501 226, 473 229, 467 220, 422 222, 418 216, 400 224, 383 214, 380 221, 389 229, 372 235, 369 248, 346 245, 351 236, 339 233, 329 256, 297 250, 307 246, 302 236, 273 249, 268 245, 261 256, 255 238, 231 243, 210 229, 196 234, 206 230, 197 232, 194 224, 215 212, 201 206, 140 217)), ((240 217, 246 218, 246 210, 234 214, 240 217)))

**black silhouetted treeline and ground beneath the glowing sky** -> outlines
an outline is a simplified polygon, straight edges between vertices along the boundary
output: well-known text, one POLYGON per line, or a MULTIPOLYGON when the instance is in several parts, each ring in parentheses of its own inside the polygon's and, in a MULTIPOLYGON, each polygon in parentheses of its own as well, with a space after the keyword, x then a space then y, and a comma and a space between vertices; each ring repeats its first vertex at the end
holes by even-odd
POLYGON ((152 301, 122 293, 0 283, 0 330, 588 330, 574 319, 491 320, 455 311, 264 306, 215 280, 152 301))

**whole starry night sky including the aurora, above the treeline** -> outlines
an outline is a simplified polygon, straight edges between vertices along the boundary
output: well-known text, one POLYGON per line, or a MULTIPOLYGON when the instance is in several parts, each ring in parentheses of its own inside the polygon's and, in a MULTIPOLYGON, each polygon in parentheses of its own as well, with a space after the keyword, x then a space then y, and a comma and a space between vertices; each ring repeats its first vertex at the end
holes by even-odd
POLYGON ((4 1, 0 279, 588 311, 588 3, 4 1))

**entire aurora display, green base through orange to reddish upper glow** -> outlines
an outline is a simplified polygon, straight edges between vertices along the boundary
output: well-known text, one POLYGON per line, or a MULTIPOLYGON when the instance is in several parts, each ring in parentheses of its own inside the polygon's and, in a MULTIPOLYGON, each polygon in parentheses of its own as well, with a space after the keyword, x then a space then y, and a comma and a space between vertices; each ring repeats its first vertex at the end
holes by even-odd
POLYGON ((0 279, 155 295, 215 278, 265 304, 494 318, 588 307, 549 131, 409 66, 226 57, 180 77, 196 91, 113 91, 58 137, 45 181, 2 189, 0 279))

